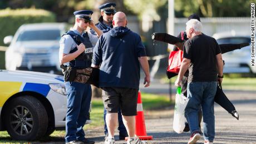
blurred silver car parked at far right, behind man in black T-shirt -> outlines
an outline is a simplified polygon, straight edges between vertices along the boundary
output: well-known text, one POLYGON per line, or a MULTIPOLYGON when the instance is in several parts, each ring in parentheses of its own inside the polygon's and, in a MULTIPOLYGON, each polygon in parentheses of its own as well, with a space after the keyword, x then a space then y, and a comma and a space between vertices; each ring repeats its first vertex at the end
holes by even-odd
MULTIPOLYGON (((250 43, 250 35, 243 33, 223 32, 215 33, 213 37, 219 44, 250 43)), ((250 46, 224 53, 224 73, 256 73, 256 67, 250 66, 250 46)))

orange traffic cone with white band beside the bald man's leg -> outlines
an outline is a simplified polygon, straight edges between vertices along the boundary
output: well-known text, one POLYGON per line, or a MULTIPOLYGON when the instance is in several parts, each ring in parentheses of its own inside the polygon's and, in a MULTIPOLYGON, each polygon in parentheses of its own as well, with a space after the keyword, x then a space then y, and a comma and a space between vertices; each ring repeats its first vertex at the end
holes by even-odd
POLYGON ((135 117, 135 120, 135 134, 140 138, 140 140, 153 140, 153 136, 147 136, 140 91, 138 92, 137 116, 135 117))

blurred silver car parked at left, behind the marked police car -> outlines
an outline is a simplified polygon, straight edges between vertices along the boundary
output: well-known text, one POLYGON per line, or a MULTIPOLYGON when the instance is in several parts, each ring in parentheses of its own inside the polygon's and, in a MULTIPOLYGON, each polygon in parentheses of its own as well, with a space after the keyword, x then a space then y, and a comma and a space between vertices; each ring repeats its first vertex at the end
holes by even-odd
POLYGON ((40 72, 61 71, 58 49, 64 23, 23 24, 13 36, 4 38, 10 44, 6 51, 6 69, 40 72))

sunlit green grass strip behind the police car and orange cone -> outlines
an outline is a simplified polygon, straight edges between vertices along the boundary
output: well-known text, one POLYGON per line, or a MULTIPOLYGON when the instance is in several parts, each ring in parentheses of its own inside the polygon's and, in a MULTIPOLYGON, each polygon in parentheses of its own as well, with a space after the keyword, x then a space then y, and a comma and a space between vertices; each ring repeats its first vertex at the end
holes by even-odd
MULTIPOLYGON (((154 110, 158 108, 163 108, 166 106, 170 106, 171 102, 169 97, 152 95, 148 93, 141 93, 143 108, 144 110, 154 110)), ((92 100, 92 111, 91 111, 91 120, 92 123, 90 125, 86 125, 84 128, 86 130, 92 129, 95 127, 104 127, 103 122, 103 103, 101 98, 93 98, 92 100)), ((56 137, 60 138, 60 141, 64 141, 65 131, 55 131, 52 133, 50 137, 43 138, 40 142, 49 142, 54 139, 56 141, 56 137)), ((57 139, 58 139, 57 138, 57 139)), ((13 141, 11 137, 8 135, 7 131, 0 132, 0 143, 28 143, 25 141, 13 141)))

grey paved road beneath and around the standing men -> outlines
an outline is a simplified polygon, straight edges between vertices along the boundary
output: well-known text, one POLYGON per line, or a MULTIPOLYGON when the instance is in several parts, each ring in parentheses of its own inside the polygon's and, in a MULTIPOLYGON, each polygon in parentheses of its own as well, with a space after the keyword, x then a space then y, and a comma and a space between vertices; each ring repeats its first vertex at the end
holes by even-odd
MULTIPOLYGON (((140 88, 142 92, 168 93, 168 85, 152 83, 151 89, 140 88)), ((214 143, 255 143, 256 144, 256 92, 226 91, 226 95, 239 112, 239 121, 215 103, 215 140, 214 143)), ((148 143, 187 143, 190 133, 175 133, 173 131, 173 109, 161 112, 145 112, 147 135, 154 136, 148 143), (152 116, 151 116, 152 115, 152 116)), ((96 143, 103 143, 102 132, 95 137, 96 131, 91 130, 88 136, 96 143), (94 136, 93 136, 94 135, 94 136)), ((101 130, 100 130, 101 131, 101 130)), ((116 133, 118 135, 118 133, 116 133)), ((117 137, 116 137, 117 138, 117 137)), ((199 143, 203 143, 203 138, 199 143)), ((125 141, 116 141, 125 143, 125 141)))

